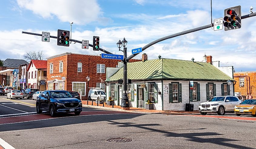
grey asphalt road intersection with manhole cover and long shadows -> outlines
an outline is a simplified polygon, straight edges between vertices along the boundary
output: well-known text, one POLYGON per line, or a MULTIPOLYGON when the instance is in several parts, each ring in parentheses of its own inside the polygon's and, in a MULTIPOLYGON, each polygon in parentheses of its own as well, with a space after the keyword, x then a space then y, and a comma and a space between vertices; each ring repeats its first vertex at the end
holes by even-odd
MULTIPOLYGON (((28 100, 17 101, 35 103, 28 100)), ((7 106, 3 104, 7 102, 17 103, 0 99, 0 105, 7 106)), ((35 112, 33 105, 21 103, 9 106, 19 106, 19 110, 23 108, 28 113, 35 112)), ((79 116, 67 114, 52 118, 48 113, 31 113, 0 117, 0 138, 16 149, 251 149, 256 148, 255 123, 253 120, 127 113, 86 107, 79 116)))

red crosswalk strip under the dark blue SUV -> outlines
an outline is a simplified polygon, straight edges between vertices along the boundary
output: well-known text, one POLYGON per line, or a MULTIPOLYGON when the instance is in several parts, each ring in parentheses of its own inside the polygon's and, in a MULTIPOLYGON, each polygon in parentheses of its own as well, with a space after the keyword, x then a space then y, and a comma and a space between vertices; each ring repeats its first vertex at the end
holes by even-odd
MULTIPOLYGON (((120 111, 83 111, 80 115, 104 115, 104 114, 134 114, 129 112, 120 112, 120 111)), ((12 116, 0 118, 1 124, 11 124, 18 122, 26 122, 26 121, 36 121, 36 120, 44 120, 44 119, 54 119, 54 118, 65 118, 75 116, 74 114, 61 115, 56 117, 51 117, 50 114, 35 114, 35 115, 23 115, 23 116, 12 116)))

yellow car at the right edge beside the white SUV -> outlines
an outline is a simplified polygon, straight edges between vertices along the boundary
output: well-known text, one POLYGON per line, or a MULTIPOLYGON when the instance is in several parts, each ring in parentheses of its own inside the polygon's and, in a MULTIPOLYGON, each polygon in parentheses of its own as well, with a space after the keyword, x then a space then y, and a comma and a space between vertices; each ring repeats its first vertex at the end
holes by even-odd
POLYGON ((246 99, 239 105, 234 107, 234 112, 237 116, 241 114, 250 114, 256 116, 256 99, 246 99))

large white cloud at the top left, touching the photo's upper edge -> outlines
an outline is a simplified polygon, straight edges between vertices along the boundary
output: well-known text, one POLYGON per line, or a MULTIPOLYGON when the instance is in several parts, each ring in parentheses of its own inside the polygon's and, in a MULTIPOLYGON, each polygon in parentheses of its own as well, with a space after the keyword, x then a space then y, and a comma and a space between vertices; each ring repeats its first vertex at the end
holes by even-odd
MULTIPOLYGON (((96 0, 78 2, 68 0, 17 0, 20 9, 28 9, 43 18, 58 18, 62 22, 74 22, 76 24, 89 24, 103 17, 101 8, 96 0)), ((18 8, 15 8, 18 9, 18 8)))

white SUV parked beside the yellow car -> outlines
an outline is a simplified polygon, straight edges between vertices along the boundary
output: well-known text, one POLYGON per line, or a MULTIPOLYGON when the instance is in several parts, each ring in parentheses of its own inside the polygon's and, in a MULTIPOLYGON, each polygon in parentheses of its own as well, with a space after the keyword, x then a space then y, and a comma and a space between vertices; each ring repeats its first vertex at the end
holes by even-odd
POLYGON ((206 115, 207 112, 216 112, 218 115, 224 115, 225 112, 234 112, 234 107, 240 104, 241 101, 236 96, 214 96, 207 102, 202 102, 198 111, 201 115, 206 115))

